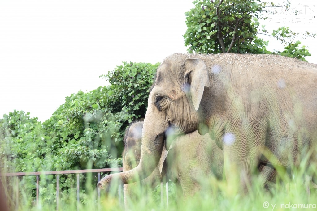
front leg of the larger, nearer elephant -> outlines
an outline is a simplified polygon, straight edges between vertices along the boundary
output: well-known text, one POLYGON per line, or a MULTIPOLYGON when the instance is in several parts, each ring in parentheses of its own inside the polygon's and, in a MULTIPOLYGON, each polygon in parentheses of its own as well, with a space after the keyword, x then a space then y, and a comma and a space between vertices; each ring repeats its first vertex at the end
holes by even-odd
POLYGON ((257 171, 266 139, 266 130, 259 125, 264 124, 252 127, 238 123, 231 127, 235 129, 228 128, 224 133, 224 170, 231 193, 245 193, 251 186, 252 174, 257 171))

